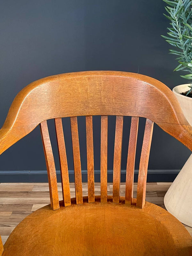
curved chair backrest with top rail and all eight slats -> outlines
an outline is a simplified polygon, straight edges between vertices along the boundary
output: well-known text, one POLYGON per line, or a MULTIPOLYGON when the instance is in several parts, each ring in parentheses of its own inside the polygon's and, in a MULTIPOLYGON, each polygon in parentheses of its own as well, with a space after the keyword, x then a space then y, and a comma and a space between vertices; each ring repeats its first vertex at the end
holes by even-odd
POLYGON ((142 208, 153 124, 192 150, 192 127, 173 92, 156 79, 117 71, 87 71, 61 74, 37 80, 14 99, 0 130, 0 154, 40 124, 47 165, 52 209, 59 208, 57 178, 47 119, 55 119, 65 206, 71 204, 68 165, 62 117, 70 117, 74 158, 76 204, 83 203, 77 116, 86 116, 88 202, 95 201, 92 116, 101 116, 101 202, 107 202, 108 116, 116 116, 113 170, 113 202, 120 200, 123 116, 132 116, 127 157, 125 204, 133 201, 133 175, 139 117, 146 118, 141 150, 137 201, 142 208))

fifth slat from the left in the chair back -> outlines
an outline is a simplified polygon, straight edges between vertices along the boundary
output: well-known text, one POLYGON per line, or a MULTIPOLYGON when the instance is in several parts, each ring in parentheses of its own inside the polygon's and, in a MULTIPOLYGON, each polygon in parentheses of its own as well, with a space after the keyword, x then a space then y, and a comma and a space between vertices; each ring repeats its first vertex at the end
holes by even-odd
POLYGON ((108 116, 101 116, 101 203, 107 203, 107 138, 108 116))

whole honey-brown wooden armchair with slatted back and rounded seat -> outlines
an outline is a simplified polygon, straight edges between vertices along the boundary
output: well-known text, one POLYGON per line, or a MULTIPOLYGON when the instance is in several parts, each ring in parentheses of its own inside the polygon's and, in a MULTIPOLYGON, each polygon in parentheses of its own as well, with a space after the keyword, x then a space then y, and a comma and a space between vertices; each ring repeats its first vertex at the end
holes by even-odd
MULTIPOLYGON (((192 255, 192 237, 179 220, 145 202, 154 122, 192 150, 192 127, 173 92, 161 82, 134 73, 88 71, 46 77, 14 99, 0 130, 0 154, 40 124, 51 204, 26 217, 12 231, 3 256, 192 255), (94 193, 92 116, 101 116, 101 191, 94 193), (113 196, 107 195, 108 116, 116 115, 113 196), (61 117, 71 120, 76 198, 70 198, 61 117), (77 116, 86 116, 88 197, 82 196, 77 116), (132 116, 125 198, 120 197, 123 116, 132 116), (137 198, 133 174, 139 117, 146 126, 137 198), (47 119, 55 119, 63 201, 59 202, 47 119), (53 211, 54 210, 54 211, 53 211)), ((4 251, 3 251, 4 250, 4 251)))

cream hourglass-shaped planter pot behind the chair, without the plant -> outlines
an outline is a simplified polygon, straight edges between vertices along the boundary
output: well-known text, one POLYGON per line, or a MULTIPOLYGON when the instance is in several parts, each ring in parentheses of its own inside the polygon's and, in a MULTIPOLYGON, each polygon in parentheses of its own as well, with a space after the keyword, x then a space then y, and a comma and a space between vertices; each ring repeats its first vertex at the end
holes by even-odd
MULTIPOLYGON (((188 85, 178 85, 173 88, 173 92, 180 102, 187 121, 192 125, 192 98, 180 94, 188 91, 188 85)), ((192 154, 167 191, 164 204, 168 212, 192 227, 192 154)))

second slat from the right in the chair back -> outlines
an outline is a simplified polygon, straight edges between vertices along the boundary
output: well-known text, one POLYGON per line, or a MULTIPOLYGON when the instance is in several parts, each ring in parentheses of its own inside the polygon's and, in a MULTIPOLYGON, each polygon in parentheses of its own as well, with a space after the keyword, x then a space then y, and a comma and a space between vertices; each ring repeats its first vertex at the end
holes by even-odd
POLYGON ((139 125, 139 117, 132 116, 130 136, 129 136, 128 155, 127 155, 125 204, 132 204, 132 199, 133 199, 133 180, 134 180, 138 125, 139 125))

